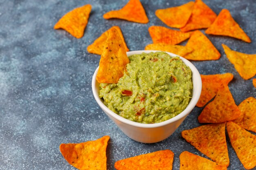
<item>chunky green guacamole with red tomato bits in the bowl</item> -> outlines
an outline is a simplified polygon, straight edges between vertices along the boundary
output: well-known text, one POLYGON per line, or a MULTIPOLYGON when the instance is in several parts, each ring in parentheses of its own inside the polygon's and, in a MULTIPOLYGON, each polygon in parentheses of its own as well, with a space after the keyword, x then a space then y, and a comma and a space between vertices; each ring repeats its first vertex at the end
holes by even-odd
POLYGON ((180 114, 192 96, 192 74, 179 57, 164 52, 129 56, 117 84, 100 84, 99 97, 121 117, 143 124, 180 114))

